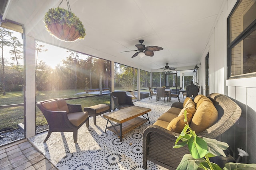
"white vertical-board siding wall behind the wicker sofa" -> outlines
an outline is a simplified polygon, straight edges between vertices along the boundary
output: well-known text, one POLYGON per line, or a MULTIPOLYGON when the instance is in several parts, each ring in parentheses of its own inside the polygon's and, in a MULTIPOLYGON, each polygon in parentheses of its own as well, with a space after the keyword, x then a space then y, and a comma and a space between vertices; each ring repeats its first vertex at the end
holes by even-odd
POLYGON ((235 4, 236 0, 226 0, 222 6, 200 59, 199 83, 201 93, 205 94, 205 57, 209 53, 209 94, 217 92, 230 96, 242 109, 236 125, 220 140, 233 141, 233 152, 241 148, 249 154, 244 163, 255 163, 256 77, 227 80, 227 18, 235 4))

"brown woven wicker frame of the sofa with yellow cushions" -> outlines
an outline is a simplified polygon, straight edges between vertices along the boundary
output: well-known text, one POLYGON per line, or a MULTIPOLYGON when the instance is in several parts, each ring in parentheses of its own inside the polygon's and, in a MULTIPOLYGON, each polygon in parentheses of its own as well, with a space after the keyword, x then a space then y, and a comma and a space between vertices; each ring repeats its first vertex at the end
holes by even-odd
MULTIPOLYGON (((218 121, 197 135, 215 139, 236 123, 240 118, 241 108, 223 94, 212 93, 207 97, 212 100, 218 111, 218 121)), ((183 107, 180 102, 175 105, 183 107)), ((147 169, 147 161, 149 160, 165 168, 175 170, 184 154, 189 153, 188 147, 172 148, 177 139, 175 136, 179 135, 179 133, 174 133, 157 125, 147 127, 143 133, 144 169, 147 169)))

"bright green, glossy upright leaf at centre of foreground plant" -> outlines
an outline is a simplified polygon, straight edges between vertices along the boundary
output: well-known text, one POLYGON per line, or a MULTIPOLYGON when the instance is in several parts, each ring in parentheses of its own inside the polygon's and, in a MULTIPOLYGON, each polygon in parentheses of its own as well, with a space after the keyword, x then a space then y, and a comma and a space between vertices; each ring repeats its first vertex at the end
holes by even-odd
POLYGON ((188 140, 188 149, 192 154, 193 158, 203 158, 207 153, 207 143, 200 137, 191 137, 188 140))

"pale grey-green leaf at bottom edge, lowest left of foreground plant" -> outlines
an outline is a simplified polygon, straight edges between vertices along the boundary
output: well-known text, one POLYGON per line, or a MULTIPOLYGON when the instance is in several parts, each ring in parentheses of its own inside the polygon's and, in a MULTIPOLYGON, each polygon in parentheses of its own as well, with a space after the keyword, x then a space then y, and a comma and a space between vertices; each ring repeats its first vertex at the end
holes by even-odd
POLYGON ((205 159, 194 159, 191 154, 185 154, 180 161, 177 170, 204 170, 200 163, 206 162, 205 159))

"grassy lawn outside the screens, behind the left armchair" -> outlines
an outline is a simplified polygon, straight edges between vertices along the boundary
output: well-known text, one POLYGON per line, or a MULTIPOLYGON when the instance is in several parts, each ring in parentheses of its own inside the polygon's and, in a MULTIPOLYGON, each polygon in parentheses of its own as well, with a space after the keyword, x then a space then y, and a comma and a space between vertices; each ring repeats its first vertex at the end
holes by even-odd
MULTIPOLYGON (((36 102, 53 98, 75 98, 81 96, 94 96, 94 94, 77 94, 84 90, 59 90, 56 92, 38 91, 36 92, 36 102)), ((24 102, 23 92, 6 92, 5 96, 0 96, 0 105, 22 104, 24 102)), ((82 108, 96 104, 110 104, 110 95, 95 96, 67 100, 69 104, 81 104, 82 108)), ((47 124, 44 115, 38 107, 36 109, 36 126, 47 124)), ((0 131, 6 129, 16 129, 18 123, 24 123, 24 107, 10 107, 0 109, 0 131)))

